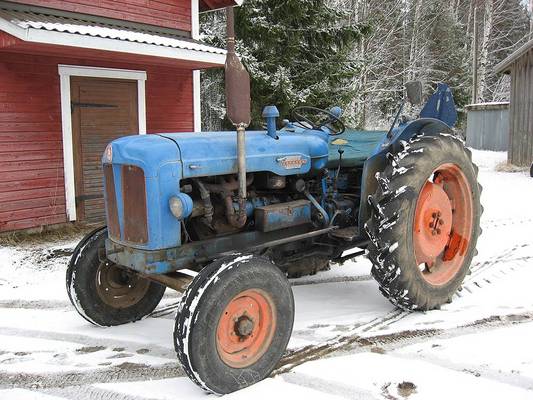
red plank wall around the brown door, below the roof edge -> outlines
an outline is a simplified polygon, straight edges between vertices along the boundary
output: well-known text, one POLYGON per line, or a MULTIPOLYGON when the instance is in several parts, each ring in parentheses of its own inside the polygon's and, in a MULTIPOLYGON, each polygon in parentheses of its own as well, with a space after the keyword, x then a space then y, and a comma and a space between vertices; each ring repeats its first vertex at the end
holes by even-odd
POLYGON ((66 222, 58 64, 147 71, 148 132, 192 131, 192 72, 0 52, 0 231, 66 222))

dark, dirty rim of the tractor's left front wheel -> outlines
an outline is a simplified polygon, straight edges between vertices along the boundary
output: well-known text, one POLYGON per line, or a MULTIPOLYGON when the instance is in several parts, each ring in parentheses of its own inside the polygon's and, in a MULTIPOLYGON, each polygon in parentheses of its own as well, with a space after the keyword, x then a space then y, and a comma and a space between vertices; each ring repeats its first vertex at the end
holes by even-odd
POLYGON ((148 292, 150 281, 106 261, 96 273, 96 291, 102 301, 113 308, 137 304, 148 292))

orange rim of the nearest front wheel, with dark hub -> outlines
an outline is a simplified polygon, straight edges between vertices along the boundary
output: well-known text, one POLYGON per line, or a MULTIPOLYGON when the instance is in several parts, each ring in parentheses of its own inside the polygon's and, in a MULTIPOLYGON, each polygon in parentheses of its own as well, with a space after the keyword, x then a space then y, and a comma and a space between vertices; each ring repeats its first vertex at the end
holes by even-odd
POLYGON ((235 296, 218 322, 217 350, 232 368, 246 368, 267 351, 276 330, 275 306, 262 290, 250 289, 235 296))

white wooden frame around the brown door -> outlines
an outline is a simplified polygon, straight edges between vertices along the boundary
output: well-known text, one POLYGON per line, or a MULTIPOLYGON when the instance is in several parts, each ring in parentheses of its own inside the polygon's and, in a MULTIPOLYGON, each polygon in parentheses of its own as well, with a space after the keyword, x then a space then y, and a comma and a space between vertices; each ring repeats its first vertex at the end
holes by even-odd
POLYGON ((139 134, 146 134, 146 71, 58 65, 61 89, 61 130, 63 135, 63 168, 65 172, 65 202, 69 221, 76 221, 76 185, 74 180, 74 150, 72 140, 72 115, 70 107, 70 77, 127 79, 137 81, 137 114, 139 134))

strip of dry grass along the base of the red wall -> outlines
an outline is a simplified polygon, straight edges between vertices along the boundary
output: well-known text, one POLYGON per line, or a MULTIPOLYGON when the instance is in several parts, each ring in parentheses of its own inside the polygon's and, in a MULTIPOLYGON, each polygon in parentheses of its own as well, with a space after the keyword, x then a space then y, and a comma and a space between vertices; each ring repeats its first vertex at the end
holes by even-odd
POLYGON ((97 228, 95 225, 61 224, 0 234, 0 246, 36 245, 83 236, 97 228))

